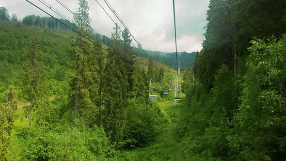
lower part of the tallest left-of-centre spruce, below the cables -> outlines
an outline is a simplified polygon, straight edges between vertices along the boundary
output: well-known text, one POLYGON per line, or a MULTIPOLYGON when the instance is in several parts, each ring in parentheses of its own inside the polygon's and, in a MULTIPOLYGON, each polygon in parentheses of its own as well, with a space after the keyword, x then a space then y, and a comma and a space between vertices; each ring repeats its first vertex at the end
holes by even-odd
MULTIPOLYGON (((96 59, 93 55, 93 45, 85 39, 73 39, 69 46, 69 59, 74 78, 71 81, 71 97, 74 100, 74 116, 77 118, 95 112, 94 95, 97 94, 96 59)), ((84 117, 89 120, 89 117, 84 117)), ((93 119, 94 120, 94 119, 93 119)))

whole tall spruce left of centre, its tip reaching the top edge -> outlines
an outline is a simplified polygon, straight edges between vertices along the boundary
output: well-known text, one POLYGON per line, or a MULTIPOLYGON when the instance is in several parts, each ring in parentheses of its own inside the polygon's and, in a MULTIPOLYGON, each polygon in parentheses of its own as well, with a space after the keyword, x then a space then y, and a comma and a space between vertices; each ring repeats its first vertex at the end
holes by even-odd
MULTIPOLYGON (((89 17, 89 6, 87 0, 79 0, 79 8, 74 16, 76 24, 79 26, 79 32, 82 34, 88 33, 88 25, 90 24, 89 17)), ((88 57, 92 58, 92 44, 84 39, 82 36, 78 35, 78 38, 73 39, 69 46, 69 59, 72 64, 72 71, 74 73, 74 78, 71 82, 71 95, 74 98, 74 116, 77 118, 78 115, 78 105, 83 107, 93 106, 93 102, 90 99, 89 85, 91 85, 90 67, 93 67, 94 60, 88 62, 88 57)))

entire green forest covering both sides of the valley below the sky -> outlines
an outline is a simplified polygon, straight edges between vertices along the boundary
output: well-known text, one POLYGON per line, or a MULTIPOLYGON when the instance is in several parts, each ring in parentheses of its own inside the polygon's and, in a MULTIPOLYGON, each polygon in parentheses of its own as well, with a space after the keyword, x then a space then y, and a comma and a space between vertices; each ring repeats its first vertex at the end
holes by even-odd
POLYGON ((286 159, 284 0, 209 0, 175 104, 175 55, 146 56, 118 24, 96 36, 78 4, 72 29, 87 38, 0 7, 0 161, 286 159))

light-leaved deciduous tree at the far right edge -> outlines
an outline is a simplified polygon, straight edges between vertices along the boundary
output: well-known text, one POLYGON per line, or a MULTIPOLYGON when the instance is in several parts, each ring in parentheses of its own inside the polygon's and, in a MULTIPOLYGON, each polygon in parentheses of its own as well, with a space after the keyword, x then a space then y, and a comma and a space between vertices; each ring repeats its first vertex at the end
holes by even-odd
POLYGON ((233 151, 244 159, 285 158, 286 37, 267 41, 256 39, 249 48, 241 106, 234 119, 236 134, 229 138, 233 151))

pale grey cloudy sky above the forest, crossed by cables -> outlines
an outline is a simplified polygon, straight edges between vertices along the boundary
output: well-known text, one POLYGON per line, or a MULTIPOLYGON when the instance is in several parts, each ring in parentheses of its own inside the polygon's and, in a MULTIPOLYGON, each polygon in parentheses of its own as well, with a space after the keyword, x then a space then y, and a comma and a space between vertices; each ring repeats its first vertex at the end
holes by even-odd
MULTIPOLYGON (((38 0, 30 0, 49 13, 53 13, 38 0)), ((66 17, 72 15, 60 6, 56 0, 45 0, 66 17)), ((71 10, 76 11, 78 0, 60 0, 71 10)), ((142 44, 144 49, 174 52, 175 32, 172 0, 108 0, 129 30, 142 44)), ((91 26, 99 33, 111 36, 111 19, 105 14, 95 0, 88 0, 90 5, 91 26)), ((116 21, 104 0, 99 3, 116 21)), ((197 51, 202 48, 203 29, 206 26, 206 12, 209 0, 175 0, 176 30, 178 51, 197 51)), ((23 18, 26 15, 46 16, 26 0, 0 0, 0 6, 9 10, 9 14, 17 14, 23 18)), ((55 16, 55 14, 52 14, 55 16)), ((123 29, 123 28, 122 28, 123 29)), ((135 42, 134 42, 135 44, 135 42)))

